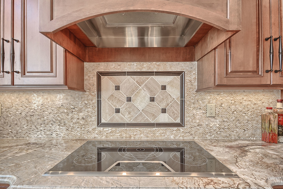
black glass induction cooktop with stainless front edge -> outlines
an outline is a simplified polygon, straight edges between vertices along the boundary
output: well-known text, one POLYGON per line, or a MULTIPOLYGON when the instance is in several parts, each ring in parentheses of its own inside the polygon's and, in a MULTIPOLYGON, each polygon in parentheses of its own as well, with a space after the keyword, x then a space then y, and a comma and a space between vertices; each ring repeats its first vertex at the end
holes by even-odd
POLYGON ((43 176, 238 177, 194 141, 87 141, 43 176))

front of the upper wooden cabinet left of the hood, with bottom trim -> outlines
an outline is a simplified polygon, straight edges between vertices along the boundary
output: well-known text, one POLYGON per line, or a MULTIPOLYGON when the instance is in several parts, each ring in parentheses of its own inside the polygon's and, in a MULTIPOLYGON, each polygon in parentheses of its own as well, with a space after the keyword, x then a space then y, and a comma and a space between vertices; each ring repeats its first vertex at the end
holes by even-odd
POLYGON ((38 3, 1 0, 0 90, 67 89, 64 49, 38 32, 38 3))

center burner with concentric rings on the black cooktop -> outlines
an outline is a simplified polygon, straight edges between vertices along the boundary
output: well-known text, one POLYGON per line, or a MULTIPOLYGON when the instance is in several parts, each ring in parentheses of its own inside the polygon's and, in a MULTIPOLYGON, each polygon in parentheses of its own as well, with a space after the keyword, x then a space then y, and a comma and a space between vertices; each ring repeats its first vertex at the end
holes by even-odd
POLYGON ((118 153, 119 155, 125 158, 129 158, 131 160, 149 160, 160 156, 163 153, 163 149, 162 147, 155 144, 137 142, 137 143, 126 144, 124 146, 119 147, 118 153), (147 148, 149 150, 148 151, 149 153, 146 153, 147 148), (135 150, 133 151, 133 149, 135 150), (139 152, 143 152, 143 154, 139 155, 138 154, 139 152))

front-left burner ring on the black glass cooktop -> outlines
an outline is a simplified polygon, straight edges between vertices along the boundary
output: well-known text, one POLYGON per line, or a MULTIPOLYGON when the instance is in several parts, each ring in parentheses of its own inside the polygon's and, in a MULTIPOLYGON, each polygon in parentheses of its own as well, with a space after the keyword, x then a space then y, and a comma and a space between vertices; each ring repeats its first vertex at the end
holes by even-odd
POLYGON ((75 159, 73 160, 73 162, 77 165, 92 165, 92 164, 97 164, 99 162, 101 162, 102 160, 104 160, 106 157, 105 153, 100 152, 100 151, 91 151, 91 152, 87 152, 87 153, 83 153, 78 155, 77 157, 75 157, 75 159), (101 160, 100 161, 96 161, 97 160, 97 154, 101 153, 101 160))

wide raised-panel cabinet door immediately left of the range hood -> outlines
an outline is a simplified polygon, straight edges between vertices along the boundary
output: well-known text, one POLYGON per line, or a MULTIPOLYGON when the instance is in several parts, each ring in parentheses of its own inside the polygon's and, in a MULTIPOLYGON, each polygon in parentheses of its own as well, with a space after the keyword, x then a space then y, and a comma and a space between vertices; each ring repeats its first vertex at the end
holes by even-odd
POLYGON ((64 49, 38 32, 38 0, 14 1, 14 85, 63 85, 64 49))

